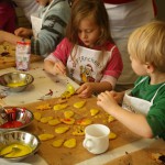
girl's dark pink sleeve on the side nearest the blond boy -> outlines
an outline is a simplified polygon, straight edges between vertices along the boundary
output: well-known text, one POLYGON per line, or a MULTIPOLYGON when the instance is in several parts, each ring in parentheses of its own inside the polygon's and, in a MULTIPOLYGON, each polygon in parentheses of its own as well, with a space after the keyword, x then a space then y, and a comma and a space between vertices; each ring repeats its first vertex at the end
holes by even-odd
POLYGON ((111 58, 103 72, 103 75, 112 76, 118 79, 122 73, 122 68, 123 68, 123 64, 122 64, 122 58, 121 58, 120 52, 119 52, 118 47, 114 47, 114 50, 112 51, 111 58))

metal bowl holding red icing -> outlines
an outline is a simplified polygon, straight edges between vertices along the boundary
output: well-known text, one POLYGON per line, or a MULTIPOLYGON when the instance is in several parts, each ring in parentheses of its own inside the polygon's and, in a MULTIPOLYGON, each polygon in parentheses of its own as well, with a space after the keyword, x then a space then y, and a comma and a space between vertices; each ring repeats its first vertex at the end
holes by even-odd
POLYGON ((28 127, 34 119, 33 113, 19 107, 0 109, 0 132, 20 130, 28 127))

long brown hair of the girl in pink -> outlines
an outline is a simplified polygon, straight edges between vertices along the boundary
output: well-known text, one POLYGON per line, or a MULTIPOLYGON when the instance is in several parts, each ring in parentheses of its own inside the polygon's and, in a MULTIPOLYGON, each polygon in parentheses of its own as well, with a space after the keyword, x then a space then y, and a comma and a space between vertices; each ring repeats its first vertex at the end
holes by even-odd
POLYGON ((108 40, 112 42, 108 13, 102 0, 74 0, 70 20, 66 28, 66 36, 73 43, 73 45, 78 44, 79 23, 87 16, 92 16, 96 23, 100 26, 101 35, 97 44, 102 45, 108 40))

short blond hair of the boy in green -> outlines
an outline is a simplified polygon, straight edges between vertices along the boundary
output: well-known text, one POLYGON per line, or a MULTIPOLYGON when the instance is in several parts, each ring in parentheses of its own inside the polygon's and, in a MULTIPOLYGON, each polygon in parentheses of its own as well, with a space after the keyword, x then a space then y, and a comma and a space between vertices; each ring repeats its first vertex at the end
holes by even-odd
POLYGON ((136 29, 129 38, 129 54, 142 64, 150 63, 165 73, 165 22, 153 21, 136 29))

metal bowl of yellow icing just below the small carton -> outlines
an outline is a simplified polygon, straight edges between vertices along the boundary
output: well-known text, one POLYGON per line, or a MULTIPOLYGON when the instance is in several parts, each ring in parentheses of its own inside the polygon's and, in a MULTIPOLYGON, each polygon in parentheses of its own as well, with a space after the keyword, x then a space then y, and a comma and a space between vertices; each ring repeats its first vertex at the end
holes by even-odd
POLYGON ((10 91, 20 92, 23 91, 30 84, 32 84, 34 77, 26 73, 8 73, 0 76, 0 85, 7 87, 10 91))

